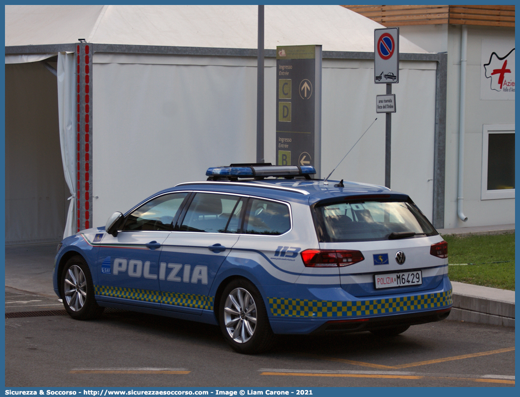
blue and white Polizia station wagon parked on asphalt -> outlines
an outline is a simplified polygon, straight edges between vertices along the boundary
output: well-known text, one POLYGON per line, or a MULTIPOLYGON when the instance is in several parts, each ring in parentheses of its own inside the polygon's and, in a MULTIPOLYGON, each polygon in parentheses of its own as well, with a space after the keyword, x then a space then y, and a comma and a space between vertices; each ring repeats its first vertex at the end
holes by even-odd
POLYGON ((219 325, 241 353, 276 334, 392 336, 445 319, 447 243, 410 197, 315 173, 210 168, 64 239, 55 292, 78 320, 108 307, 219 325))

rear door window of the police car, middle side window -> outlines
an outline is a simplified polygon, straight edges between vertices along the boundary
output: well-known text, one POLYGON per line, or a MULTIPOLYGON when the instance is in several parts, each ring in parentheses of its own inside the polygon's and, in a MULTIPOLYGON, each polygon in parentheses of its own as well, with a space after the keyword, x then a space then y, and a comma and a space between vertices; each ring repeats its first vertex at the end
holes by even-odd
POLYGON ((242 207, 239 196, 197 193, 178 230, 185 232, 237 233, 242 207))

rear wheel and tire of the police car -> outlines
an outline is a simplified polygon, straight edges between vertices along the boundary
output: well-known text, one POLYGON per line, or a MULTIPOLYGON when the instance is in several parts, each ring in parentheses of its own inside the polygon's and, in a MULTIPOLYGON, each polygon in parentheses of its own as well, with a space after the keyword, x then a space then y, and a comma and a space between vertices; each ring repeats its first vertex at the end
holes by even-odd
POLYGON ((224 288, 218 313, 220 330, 237 352, 262 353, 274 343, 264 300, 248 280, 236 279, 224 288))

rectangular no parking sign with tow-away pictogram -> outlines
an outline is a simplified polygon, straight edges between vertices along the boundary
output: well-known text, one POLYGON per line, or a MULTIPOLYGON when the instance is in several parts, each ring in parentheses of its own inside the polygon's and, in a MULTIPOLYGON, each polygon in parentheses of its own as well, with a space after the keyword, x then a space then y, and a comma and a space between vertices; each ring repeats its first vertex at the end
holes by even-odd
POLYGON ((374 29, 374 83, 399 83, 399 28, 374 29))

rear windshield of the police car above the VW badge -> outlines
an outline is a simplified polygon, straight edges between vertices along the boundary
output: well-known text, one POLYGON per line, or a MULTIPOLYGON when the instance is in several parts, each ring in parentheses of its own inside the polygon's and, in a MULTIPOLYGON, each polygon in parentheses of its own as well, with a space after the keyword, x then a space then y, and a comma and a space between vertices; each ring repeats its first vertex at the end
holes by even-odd
POLYGON ((314 214, 322 242, 408 239, 437 234, 411 201, 318 203, 314 214))

